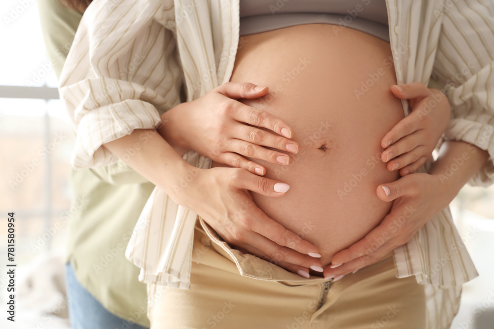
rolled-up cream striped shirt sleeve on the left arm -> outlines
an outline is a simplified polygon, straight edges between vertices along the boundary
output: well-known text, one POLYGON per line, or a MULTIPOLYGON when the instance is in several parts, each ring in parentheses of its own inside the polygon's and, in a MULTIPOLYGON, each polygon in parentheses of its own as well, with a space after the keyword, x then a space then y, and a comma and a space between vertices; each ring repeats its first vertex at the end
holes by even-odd
POLYGON ((174 33, 173 0, 89 5, 60 76, 60 97, 77 132, 75 169, 116 164, 103 144, 155 128, 180 102, 174 33))

